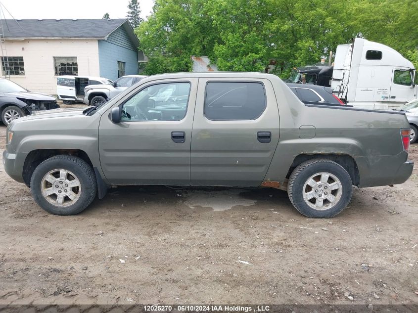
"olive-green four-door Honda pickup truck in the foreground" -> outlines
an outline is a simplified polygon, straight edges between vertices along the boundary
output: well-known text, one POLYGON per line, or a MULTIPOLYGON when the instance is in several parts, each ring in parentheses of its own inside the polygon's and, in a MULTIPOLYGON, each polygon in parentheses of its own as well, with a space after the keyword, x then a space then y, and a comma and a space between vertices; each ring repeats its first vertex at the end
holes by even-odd
POLYGON ((177 73, 110 101, 13 121, 3 163, 47 212, 77 214, 111 185, 264 186, 330 218, 352 186, 406 181, 402 112, 304 104, 261 73, 177 73))

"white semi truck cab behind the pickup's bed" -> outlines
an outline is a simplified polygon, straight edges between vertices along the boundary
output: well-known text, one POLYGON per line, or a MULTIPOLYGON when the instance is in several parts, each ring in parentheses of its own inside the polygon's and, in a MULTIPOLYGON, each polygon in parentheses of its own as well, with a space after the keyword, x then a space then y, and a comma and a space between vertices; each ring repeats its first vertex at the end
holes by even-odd
POLYGON ((398 51, 362 38, 338 45, 331 87, 347 104, 392 109, 417 98, 418 74, 398 51))

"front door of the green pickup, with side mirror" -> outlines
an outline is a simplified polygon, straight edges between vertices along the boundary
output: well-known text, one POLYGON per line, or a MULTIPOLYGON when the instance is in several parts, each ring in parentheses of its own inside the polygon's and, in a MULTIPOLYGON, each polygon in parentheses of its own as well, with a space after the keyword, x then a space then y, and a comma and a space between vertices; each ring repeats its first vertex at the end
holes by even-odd
POLYGON ((140 85, 110 109, 99 125, 100 164, 112 184, 190 184, 190 140, 197 78, 140 85))

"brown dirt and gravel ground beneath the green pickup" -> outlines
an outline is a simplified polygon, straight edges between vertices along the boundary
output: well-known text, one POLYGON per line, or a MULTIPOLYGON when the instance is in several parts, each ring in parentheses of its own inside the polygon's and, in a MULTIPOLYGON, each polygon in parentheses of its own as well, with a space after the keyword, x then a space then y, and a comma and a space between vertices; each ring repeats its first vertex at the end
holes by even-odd
POLYGON ((417 304, 410 158, 406 183, 356 188, 333 219, 275 189, 156 186, 54 216, 0 162, 0 304, 417 304))

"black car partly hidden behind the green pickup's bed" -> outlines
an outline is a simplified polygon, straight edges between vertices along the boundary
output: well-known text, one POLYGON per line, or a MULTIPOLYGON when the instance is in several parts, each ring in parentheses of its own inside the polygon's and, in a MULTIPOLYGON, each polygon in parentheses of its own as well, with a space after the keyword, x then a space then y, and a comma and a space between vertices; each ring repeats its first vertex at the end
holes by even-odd
POLYGON ((332 88, 310 84, 286 84, 302 102, 319 102, 319 104, 345 105, 332 88))

